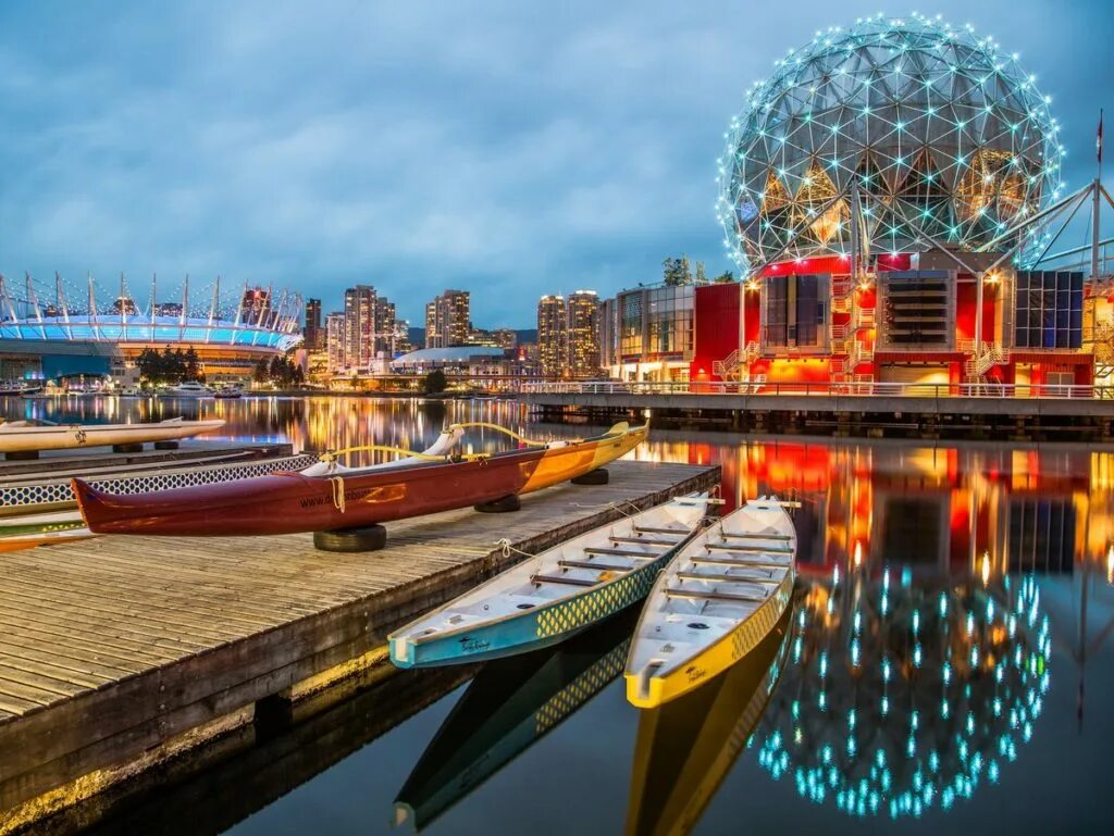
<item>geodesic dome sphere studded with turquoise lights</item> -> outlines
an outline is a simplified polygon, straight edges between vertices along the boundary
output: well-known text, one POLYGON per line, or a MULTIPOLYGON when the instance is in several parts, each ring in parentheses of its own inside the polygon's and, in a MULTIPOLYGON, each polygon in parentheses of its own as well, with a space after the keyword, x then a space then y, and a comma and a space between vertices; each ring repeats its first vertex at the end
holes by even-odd
POLYGON ((991 38, 939 18, 860 20, 776 62, 720 160, 724 244, 745 271, 847 254, 852 181, 874 250, 974 249, 1058 197, 1051 99, 991 38))

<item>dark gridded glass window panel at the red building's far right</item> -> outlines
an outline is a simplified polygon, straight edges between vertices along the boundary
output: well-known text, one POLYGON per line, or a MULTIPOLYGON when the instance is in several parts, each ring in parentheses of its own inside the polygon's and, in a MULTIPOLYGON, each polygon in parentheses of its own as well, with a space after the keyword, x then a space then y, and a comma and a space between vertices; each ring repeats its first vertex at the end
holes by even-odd
POLYGON ((1083 346, 1082 273, 1020 271, 1017 274, 1016 299, 1016 347, 1083 346))

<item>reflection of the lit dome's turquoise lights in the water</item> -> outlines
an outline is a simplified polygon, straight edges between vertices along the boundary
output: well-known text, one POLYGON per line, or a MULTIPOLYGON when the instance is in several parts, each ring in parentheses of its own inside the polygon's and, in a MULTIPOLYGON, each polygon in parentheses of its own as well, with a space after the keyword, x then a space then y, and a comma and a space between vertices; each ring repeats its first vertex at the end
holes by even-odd
POLYGON ((1033 736, 1052 640, 1036 582, 864 572, 799 590, 759 763, 844 813, 921 816, 997 783, 1033 736))

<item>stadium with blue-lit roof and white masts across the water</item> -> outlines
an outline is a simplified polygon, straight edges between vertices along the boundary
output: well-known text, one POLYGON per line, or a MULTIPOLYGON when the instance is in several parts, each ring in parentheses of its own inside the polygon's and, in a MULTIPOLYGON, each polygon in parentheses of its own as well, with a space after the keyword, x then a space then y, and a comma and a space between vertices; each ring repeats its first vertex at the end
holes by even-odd
POLYGON ((143 351, 169 347, 195 350, 211 381, 244 378, 301 342, 301 307, 296 293, 229 292, 219 279, 193 289, 188 277, 153 279, 140 302, 123 278, 109 292, 92 278, 78 289, 60 276, 49 287, 0 276, 0 377, 120 375, 143 351))

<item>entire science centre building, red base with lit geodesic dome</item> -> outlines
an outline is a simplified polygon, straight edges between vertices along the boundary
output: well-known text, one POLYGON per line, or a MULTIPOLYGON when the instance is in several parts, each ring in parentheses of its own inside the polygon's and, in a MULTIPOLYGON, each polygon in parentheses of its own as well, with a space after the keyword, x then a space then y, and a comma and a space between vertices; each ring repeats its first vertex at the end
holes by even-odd
POLYGON ((1089 214, 1097 239, 1110 196, 1065 188, 1051 102, 1017 56, 938 18, 791 49, 719 160, 742 281, 620 294, 605 364, 674 383, 1106 382, 1110 271, 1097 242, 1061 237, 1089 214))

